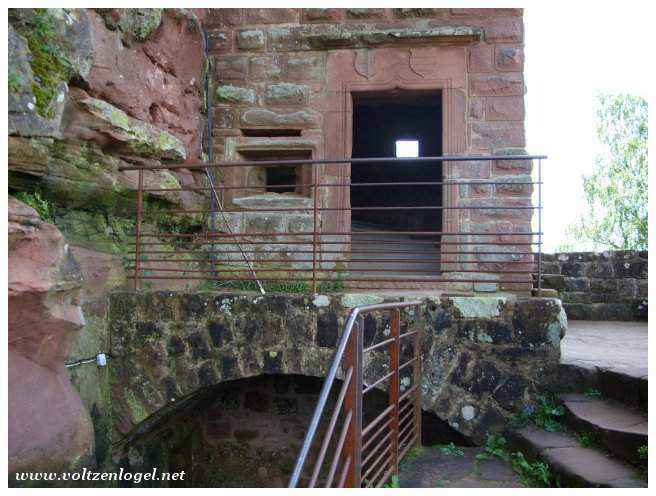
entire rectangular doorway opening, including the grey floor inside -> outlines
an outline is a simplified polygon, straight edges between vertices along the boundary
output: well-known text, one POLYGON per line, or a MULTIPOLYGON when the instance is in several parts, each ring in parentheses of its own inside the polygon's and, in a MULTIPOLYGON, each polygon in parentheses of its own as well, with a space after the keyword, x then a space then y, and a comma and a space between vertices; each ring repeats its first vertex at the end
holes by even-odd
MULTIPOLYGON (((440 91, 353 95, 353 158, 442 154, 440 91)), ((442 207, 440 184, 357 186, 357 183, 439 183, 442 163, 381 162, 351 166, 351 267, 372 274, 439 274, 442 212, 435 209, 358 210, 359 207, 442 207), (377 231, 381 231, 377 234, 377 231), (385 231, 384 233, 382 231, 385 231), (391 232, 390 232, 391 231, 391 232), (412 234, 412 232, 415 234, 412 234), (416 234, 416 232, 422 234, 416 234), (431 234, 426 234, 430 232, 431 234), (405 234, 407 233, 407 234, 405 234), (376 246, 379 249, 369 248, 376 246), (384 243, 384 244, 383 244, 384 243), (403 253, 404 260, 399 260, 403 253), (409 260, 409 261, 408 261, 409 260), (411 269, 411 270, 409 270, 411 269)))

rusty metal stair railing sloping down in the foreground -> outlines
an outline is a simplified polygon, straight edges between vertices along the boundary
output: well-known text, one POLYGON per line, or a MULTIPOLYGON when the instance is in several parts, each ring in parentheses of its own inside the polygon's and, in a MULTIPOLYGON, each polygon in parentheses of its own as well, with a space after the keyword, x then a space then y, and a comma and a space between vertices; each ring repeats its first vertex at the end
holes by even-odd
POLYGON ((398 475, 399 462, 414 447, 421 445, 421 355, 420 330, 401 329, 401 310, 418 307, 420 301, 381 303, 355 307, 348 318, 337 345, 335 358, 321 389, 310 426, 289 487, 381 487, 398 475), (388 311, 389 337, 364 346, 364 316, 388 311), (402 343, 413 338, 412 358, 401 363, 402 343), (364 380, 364 364, 372 352, 385 353, 388 373, 364 380), (407 372, 412 369, 412 372, 407 372), (341 371, 343 381, 328 424, 318 441, 320 421, 326 411, 331 391, 341 371), (401 385, 406 371, 409 384, 401 385), (363 401, 374 389, 387 386, 388 404, 375 411, 363 425, 363 401), (402 389, 405 389, 402 391, 402 389), (332 458, 327 459, 330 453, 332 458), (312 454, 312 455, 311 455, 312 454), (305 475, 305 477, 304 477, 305 475))

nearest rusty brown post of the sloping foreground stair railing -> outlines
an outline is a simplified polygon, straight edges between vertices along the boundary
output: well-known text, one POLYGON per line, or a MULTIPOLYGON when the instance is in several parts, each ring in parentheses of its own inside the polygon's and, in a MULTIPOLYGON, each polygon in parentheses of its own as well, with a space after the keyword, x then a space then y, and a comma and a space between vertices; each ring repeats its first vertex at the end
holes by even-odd
POLYGON ((351 466, 346 478, 346 487, 362 486, 362 336, 364 332, 362 316, 353 326, 346 353, 344 355, 345 370, 353 366, 351 384, 344 400, 344 414, 353 411, 351 426, 346 435, 343 459, 351 457, 351 466))

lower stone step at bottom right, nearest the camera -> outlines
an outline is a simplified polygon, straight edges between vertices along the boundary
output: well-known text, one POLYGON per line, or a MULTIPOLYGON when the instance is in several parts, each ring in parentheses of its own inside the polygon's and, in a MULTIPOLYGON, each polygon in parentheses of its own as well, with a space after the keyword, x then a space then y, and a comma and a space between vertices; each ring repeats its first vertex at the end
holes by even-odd
POLYGON ((594 448, 583 448, 573 436, 533 426, 506 433, 513 449, 530 461, 547 462, 562 487, 647 487, 635 468, 594 448))

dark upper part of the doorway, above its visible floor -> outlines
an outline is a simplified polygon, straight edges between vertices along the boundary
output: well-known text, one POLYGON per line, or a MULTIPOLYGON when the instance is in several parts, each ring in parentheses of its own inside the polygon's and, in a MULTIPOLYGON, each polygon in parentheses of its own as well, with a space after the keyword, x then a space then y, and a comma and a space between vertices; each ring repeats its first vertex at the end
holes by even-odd
MULTIPOLYGON (((440 92, 394 92, 354 95, 354 158, 442 154, 440 92)), ((439 182, 440 162, 398 162, 353 165, 352 183, 439 182)), ((405 231, 441 231, 441 210, 357 210, 376 206, 441 206, 442 188, 426 186, 371 186, 351 188, 351 214, 356 224, 405 231)))

